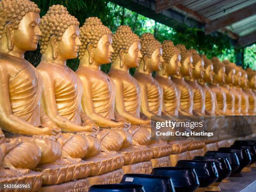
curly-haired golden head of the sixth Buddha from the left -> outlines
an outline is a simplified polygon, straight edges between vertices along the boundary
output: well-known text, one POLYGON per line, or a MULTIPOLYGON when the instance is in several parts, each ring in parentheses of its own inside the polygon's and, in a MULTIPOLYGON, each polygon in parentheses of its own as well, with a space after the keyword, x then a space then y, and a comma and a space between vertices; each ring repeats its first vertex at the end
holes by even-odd
POLYGON ((174 46, 172 41, 165 40, 162 44, 164 62, 161 65, 163 74, 179 75, 181 67, 181 51, 174 46))

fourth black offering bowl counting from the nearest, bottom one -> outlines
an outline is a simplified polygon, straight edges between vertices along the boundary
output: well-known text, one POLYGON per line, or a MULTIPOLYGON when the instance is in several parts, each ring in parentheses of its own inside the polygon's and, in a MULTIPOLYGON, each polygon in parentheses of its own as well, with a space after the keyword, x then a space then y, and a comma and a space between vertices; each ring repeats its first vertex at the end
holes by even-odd
POLYGON ((207 187, 219 177, 215 163, 212 161, 179 160, 176 166, 194 168, 200 182, 199 187, 207 187))

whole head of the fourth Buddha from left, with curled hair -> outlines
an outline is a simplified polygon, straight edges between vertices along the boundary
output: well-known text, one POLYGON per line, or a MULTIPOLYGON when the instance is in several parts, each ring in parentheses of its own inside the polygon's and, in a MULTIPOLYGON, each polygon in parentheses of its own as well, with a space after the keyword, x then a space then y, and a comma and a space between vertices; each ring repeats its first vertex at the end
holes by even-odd
POLYGON ((120 67, 125 66, 127 69, 138 67, 142 58, 141 41, 133 33, 131 27, 118 27, 118 30, 113 34, 113 49, 112 63, 118 64, 120 67))

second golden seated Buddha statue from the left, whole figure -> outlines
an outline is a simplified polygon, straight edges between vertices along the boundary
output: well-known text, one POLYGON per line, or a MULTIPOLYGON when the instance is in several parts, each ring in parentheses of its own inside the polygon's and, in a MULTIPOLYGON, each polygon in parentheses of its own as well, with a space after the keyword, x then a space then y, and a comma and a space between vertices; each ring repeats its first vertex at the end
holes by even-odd
POLYGON ((63 134, 62 143, 70 133, 79 136, 80 141, 73 141, 79 141, 79 145, 77 148, 70 146, 69 154, 78 153, 80 159, 90 161, 90 175, 117 169, 123 159, 100 153, 102 138, 96 138, 98 126, 81 110, 82 82, 66 65, 67 59, 77 57, 81 45, 79 22, 64 6, 53 5, 41 18, 39 28, 42 31, 39 39, 42 58, 37 69, 44 83, 41 99, 44 112, 62 131, 67 132, 63 134), (111 164, 112 161, 115 162, 111 164))

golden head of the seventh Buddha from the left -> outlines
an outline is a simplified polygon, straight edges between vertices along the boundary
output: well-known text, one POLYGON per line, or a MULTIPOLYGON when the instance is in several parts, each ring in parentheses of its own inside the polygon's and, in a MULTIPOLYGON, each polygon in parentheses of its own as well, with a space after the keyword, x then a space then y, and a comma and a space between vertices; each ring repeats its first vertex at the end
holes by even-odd
POLYGON ((192 53, 186 49, 186 47, 182 44, 178 44, 176 46, 181 51, 181 67, 180 73, 184 76, 189 76, 192 78, 194 66, 192 64, 193 58, 192 53))

